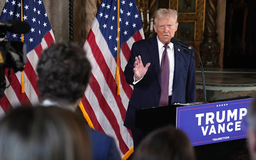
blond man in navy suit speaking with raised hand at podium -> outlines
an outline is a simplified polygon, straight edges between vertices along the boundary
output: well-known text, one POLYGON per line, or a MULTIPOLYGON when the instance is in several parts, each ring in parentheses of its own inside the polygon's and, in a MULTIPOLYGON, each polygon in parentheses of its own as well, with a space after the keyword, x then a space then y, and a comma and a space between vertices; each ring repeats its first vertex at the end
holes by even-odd
POLYGON ((127 83, 133 85, 124 126, 132 132, 134 149, 144 136, 135 128, 136 109, 196 100, 194 60, 170 42, 178 27, 177 11, 159 8, 153 27, 157 36, 133 43, 124 70, 127 83))

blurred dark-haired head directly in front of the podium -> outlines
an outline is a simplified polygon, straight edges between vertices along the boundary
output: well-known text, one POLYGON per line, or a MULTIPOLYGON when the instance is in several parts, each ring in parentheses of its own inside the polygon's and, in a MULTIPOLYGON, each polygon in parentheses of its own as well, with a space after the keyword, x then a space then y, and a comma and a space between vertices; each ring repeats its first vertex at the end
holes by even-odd
POLYGON ((181 130, 169 125, 149 133, 138 145, 133 160, 194 160, 194 150, 181 130))

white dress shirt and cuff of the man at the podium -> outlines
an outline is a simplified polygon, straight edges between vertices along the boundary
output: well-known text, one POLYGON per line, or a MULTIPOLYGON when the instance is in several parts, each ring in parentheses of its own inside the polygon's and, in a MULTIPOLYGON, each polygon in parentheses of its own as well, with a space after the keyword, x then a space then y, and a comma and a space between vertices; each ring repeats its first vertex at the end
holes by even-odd
MULTIPOLYGON (((158 53, 159 53, 159 64, 161 66, 161 59, 162 59, 162 53, 164 51, 164 44, 158 39, 158 53)), ((169 95, 172 95, 172 83, 173 83, 173 75, 174 75, 174 46, 173 43, 170 42, 169 47, 167 48, 168 58, 169 58, 169 95)), ((143 57, 141 57, 143 58, 143 57)), ((143 77, 141 77, 139 80, 135 81, 135 77, 133 76, 133 84, 136 84, 139 82, 143 77)))

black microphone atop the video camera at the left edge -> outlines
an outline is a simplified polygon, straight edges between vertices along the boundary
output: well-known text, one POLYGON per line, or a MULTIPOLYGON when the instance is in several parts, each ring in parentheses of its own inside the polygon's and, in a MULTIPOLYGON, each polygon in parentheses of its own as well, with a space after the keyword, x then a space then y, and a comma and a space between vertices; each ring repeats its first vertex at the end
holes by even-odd
POLYGON ((9 19, 7 21, 0 21, 0 30, 6 30, 19 34, 27 33, 30 30, 30 25, 25 21, 9 19))

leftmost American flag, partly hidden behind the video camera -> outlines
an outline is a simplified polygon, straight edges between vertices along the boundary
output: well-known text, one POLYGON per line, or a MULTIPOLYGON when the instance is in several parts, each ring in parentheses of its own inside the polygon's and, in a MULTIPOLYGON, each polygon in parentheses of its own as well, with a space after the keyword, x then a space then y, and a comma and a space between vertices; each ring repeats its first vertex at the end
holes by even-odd
MULTIPOLYGON (((13 73, 11 71, 10 78, 12 83, 4 90, 4 95, 0 99, 1 116, 17 105, 38 103, 36 64, 42 49, 45 49, 54 41, 53 32, 42 0, 6 0, 0 20, 21 20, 21 17, 23 21, 30 24, 30 31, 23 35, 24 43, 27 47, 26 65, 23 71, 24 93, 21 93, 21 72, 13 73)), ((6 37, 9 40, 21 41, 21 34, 7 32, 6 37)), ((6 85, 9 82, 10 79, 6 80, 6 85)))

